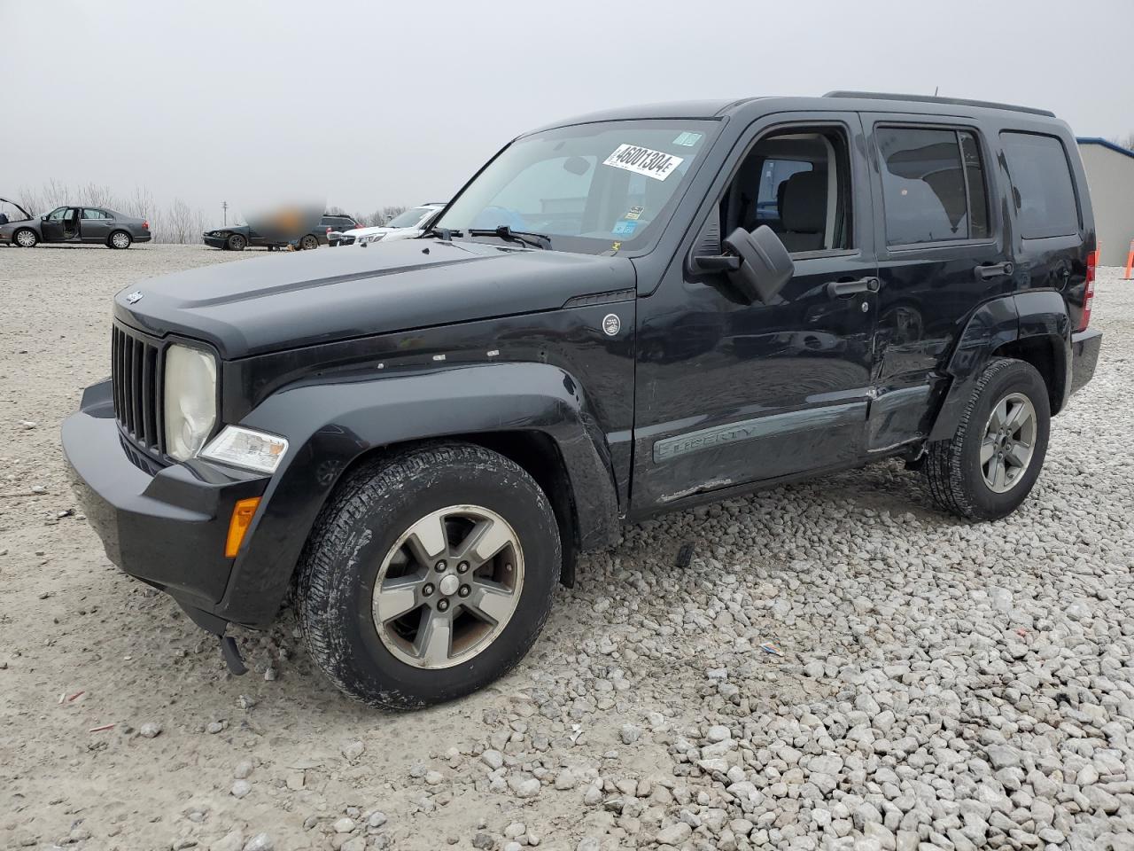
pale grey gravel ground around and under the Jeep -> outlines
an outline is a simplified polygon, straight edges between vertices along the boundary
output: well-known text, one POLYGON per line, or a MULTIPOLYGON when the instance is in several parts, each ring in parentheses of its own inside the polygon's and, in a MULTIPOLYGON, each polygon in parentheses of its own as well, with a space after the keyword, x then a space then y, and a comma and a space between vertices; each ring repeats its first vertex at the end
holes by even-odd
POLYGON ((886 463, 644 523, 496 688, 393 716, 341 698, 287 617, 230 676, 60 516, 110 295, 248 254, 0 250, 0 848, 1134 849, 1117 270, 1099 372, 1012 517, 942 516, 886 463))

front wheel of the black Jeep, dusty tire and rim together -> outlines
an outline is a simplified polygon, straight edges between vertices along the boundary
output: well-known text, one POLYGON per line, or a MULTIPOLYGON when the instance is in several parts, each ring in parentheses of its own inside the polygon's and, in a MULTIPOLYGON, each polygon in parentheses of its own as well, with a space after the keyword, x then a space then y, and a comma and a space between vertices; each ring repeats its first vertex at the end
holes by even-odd
POLYGON ((344 692, 380 709, 415 709, 469 694, 510 671, 547 621, 559 570, 555 514, 519 465, 471 444, 418 445, 363 464, 336 488, 299 561, 299 624, 311 657, 344 692), (415 548, 429 536, 412 532, 430 528, 447 529, 448 541, 437 533, 432 547, 415 548), (465 536, 476 530, 510 534, 515 544, 482 566, 476 547, 460 561, 465 536), (423 550, 434 555, 415 555, 423 550), (374 593, 398 580, 412 587, 403 590, 408 598, 374 593), (482 621, 469 608, 480 601, 510 608, 482 621), (422 649, 435 649, 426 624, 446 617, 449 640, 437 643, 437 654, 422 649))

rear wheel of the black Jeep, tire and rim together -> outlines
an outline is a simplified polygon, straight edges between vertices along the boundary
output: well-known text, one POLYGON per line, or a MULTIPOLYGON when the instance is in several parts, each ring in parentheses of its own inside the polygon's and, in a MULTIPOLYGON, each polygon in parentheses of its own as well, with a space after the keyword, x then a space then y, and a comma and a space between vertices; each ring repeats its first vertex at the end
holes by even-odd
POLYGON ((1035 368, 1007 357, 992 361, 978 380, 953 438, 929 445, 924 470, 930 496, 940 508, 967 520, 1012 514, 1040 475, 1050 428, 1048 388, 1035 368), (1013 421, 997 429, 993 411, 998 421, 1013 421), (990 460, 982 462, 988 453, 990 460), (1025 454, 1026 463, 1021 463, 1025 454))

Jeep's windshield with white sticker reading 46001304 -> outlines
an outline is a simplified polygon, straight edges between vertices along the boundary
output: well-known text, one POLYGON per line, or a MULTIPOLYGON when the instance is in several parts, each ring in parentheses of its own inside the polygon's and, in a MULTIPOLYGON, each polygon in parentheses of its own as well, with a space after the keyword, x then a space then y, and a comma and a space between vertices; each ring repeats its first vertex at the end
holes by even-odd
POLYGON ((517 140, 452 202, 435 227, 506 225, 551 247, 600 254, 644 246, 708 149, 714 121, 602 121, 517 140))

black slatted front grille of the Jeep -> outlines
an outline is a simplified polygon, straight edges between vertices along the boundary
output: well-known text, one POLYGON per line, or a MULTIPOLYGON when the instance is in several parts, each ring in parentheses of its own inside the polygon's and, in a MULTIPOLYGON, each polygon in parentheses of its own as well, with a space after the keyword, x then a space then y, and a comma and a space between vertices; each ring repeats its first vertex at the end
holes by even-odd
POLYGON ((161 412, 161 345, 116 325, 110 351, 115 419, 136 446, 161 455, 166 444, 161 412))

